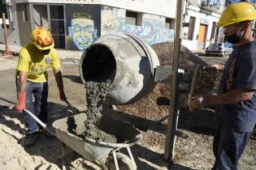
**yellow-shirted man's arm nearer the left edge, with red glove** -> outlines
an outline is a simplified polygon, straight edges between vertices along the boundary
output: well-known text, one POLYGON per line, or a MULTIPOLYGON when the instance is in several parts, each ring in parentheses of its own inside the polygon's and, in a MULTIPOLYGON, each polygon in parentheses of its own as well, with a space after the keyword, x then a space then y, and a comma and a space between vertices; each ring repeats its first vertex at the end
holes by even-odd
POLYGON ((15 108, 17 113, 22 113, 22 110, 26 107, 26 83, 28 73, 19 70, 19 84, 18 84, 18 104, 15 108))

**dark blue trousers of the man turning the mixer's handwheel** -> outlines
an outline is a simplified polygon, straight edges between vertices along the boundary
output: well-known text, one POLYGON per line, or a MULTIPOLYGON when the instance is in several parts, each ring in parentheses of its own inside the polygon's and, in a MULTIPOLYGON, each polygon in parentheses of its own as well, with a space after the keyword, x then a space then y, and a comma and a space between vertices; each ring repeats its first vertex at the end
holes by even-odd
POLYGON ((212 169, 237 170, 238 161, 245 151, 251 134, 251 132, 241 133, 225 130, 221 125, 218 125, 213 142, 215 165, 212 169))

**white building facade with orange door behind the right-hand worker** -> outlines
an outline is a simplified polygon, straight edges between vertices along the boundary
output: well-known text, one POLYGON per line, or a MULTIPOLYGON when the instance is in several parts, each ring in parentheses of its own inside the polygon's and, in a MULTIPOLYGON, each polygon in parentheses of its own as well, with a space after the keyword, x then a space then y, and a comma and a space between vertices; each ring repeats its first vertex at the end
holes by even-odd
MULTIPOLYGON (((223 42, 223 29, 216 28, 223 9, 240 0, 186 0, 182 44, 190 50, 206 49, 223 42)), ((247 0, 255 4, 255 0, 247 0)))

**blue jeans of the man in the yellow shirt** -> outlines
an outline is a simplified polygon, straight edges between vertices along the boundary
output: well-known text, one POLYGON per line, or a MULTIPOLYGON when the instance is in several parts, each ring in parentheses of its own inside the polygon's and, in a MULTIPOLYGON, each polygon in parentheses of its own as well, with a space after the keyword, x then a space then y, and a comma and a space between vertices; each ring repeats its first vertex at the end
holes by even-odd
MULTIPOLYGON (((47 110, 47 98, 48 98, 48 83, 33 83, 27 81, 26 84, 26 108, 34 113, 42 122, 47 123, 48 110, 47 110), (33 101, 34 98, 34 101, 33 101)), ((33 134, 40 129, 41 125, 37 124, 28 113, 24 112, 24 121, 28 126, 28 133, 33 134)))

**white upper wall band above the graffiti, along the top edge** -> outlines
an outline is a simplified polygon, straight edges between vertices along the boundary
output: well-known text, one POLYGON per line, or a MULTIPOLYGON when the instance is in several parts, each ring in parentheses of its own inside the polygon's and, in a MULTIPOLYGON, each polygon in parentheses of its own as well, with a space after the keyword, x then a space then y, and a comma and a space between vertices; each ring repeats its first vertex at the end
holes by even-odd
POLYGON ((168 18, 175 18, 176 15, 176 0, 14 0, 14 2, 102 4, 168 18))

